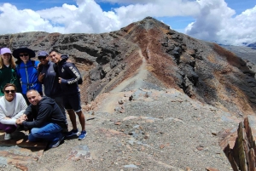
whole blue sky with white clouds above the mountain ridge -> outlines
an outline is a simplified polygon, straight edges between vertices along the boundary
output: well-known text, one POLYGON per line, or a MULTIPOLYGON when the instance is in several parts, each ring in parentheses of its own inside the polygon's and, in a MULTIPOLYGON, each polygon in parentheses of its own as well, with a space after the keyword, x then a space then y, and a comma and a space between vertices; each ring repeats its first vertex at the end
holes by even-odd
POLYGON ((255 14, 255 0, 0 0, 0 34, 101 33, 152 16, 191 37, 241 45, 256 42, 255 14))

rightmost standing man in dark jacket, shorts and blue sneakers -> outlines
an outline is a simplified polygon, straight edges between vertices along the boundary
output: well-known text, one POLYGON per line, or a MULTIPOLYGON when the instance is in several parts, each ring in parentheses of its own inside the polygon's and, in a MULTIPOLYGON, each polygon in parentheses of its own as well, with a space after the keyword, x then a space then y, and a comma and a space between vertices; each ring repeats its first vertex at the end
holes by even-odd
POLYGON ((50 59, 55 63, 57 72, 59 74, 59 83, 63 94, 63 103, 69 118, 71 120, 73 129, 66 134, 66 137, 79 135, 79 140, 84 140, 87 133, 85 131, 85 117, 81 108, 79 79, 81 78, 79 71, 73 63, 67 62, 68 56, 61 55, 61 53, 53 49, 49 52, 50 59), (82 131, 79 134, 77 128, 76 114, 79 116, 82 131))

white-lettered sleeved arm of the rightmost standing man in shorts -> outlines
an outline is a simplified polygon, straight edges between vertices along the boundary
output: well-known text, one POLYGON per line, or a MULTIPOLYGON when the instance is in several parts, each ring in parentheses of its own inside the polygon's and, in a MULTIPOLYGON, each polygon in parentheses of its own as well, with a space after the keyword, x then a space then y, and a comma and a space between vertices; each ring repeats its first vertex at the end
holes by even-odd
POLYGON ((64 68, 65 71, 67 71, 68 74, 72 76, 71 79, 63 79, 59 77, 59 83, 65 83, 65 84, 73 84, 77 83, 80 79, 79 70, 76 66, 73 65, 73 63, 66 63, 66 67, 64 68))

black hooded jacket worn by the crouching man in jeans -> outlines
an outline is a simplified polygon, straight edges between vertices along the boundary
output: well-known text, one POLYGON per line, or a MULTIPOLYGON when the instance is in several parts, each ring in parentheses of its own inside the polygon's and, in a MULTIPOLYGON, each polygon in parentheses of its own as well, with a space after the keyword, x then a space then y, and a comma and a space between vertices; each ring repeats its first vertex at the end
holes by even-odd
POLYGON ((49 97, 43 97, 38 105, 28 105, 24 112, 27 117, 32 117, 33 121, 24 121, 22 125, 28 128, 39 128, 44 123, 57 123, 62 128, 66 128, 66 116, 63 115, 59 105, 49 97))

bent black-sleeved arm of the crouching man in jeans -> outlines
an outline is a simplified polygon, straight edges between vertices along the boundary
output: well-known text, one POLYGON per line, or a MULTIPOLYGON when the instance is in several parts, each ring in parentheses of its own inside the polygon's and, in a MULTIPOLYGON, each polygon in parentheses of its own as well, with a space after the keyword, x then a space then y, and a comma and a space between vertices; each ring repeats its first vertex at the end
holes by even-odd
POLYGON ((49 120, 49 117, 52 111, 53 111, 53 107, 51 105, 49 104, 40 105, 38 109, 38 117, 32 122, 23 121, 22 125, 28 128, 38 128, 47 120, 49 120))

